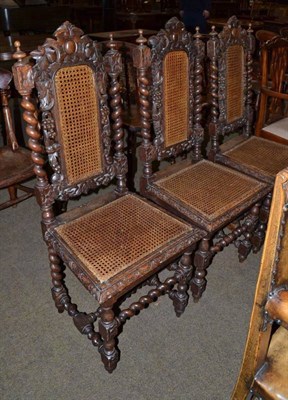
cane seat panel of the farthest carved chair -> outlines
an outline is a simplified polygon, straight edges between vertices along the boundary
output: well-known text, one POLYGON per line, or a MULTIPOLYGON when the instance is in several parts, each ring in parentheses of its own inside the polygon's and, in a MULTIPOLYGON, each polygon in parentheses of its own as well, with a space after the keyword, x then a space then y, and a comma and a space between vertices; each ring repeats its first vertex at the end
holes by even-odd
POLYGON ((269 176, 275 176, 288 166, 288 146, 257 137, 251 137, 224 154, 269 176))

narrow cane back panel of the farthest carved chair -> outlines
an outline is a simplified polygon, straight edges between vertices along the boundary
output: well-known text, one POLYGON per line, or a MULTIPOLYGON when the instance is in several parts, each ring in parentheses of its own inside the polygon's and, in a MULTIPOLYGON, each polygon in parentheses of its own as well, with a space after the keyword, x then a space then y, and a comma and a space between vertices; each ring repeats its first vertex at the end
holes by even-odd
POLYGON ((226 107, 227 123, 243 116, 244 51, 240 45, 230 46, 226 53, 226 107))

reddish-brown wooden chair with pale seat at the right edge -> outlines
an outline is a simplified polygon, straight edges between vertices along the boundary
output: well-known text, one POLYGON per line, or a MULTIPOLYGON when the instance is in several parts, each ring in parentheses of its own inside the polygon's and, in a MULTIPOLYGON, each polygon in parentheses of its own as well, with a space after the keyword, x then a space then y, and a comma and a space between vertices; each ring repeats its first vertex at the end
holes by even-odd
POLYGON ((277 36, 264 43, 260 59, 260 103, 255 135, 287 145, 288 38, 277 36))

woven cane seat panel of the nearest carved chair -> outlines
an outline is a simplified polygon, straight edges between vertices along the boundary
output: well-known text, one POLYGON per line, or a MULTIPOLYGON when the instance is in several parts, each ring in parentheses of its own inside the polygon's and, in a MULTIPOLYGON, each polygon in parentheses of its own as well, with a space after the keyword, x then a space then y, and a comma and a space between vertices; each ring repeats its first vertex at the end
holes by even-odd
POLYGON ((56 231, 90 274, 104 282, 191 229, 127 195, 56 231))

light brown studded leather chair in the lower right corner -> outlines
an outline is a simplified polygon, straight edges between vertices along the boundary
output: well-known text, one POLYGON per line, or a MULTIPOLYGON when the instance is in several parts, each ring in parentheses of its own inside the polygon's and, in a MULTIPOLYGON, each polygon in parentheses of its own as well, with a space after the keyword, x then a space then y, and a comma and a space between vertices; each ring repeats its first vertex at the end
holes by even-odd
POLYGON ((288 169, 278 173, 232 400, 288 398, 288 169), (248 396, 249 395, 249 396, 248 396))

